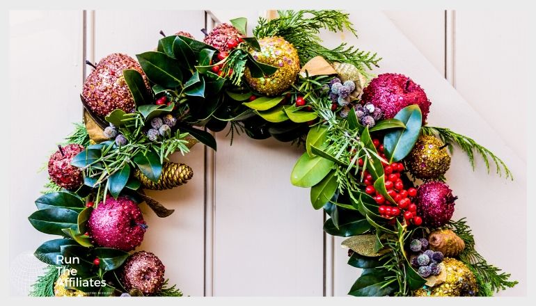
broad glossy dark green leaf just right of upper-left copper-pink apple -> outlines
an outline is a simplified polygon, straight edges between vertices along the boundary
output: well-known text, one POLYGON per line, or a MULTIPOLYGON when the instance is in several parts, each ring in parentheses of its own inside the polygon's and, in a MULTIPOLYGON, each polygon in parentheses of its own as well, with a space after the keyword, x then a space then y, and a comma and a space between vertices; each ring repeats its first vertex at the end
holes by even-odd
POLYGON ((155 51, 137 54, 136 57, 143 72, 153 83, 165 88, 177 88, 182 84, 180 63, 173 58, 155 51))

